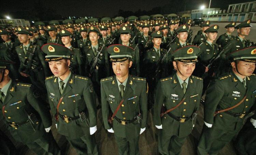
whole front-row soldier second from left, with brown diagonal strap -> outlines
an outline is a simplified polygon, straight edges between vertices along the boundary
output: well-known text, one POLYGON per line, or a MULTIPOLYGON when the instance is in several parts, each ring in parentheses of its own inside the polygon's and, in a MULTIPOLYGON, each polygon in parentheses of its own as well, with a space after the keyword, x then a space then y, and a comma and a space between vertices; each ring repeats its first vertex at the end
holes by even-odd
POLYGON ((98 154, 96 98, 91 80, 69 70, 70 50, 59 44, 45 44, 45 61, 54 76, 45 79, 49 104, 59 134, 78 154, 98 154))

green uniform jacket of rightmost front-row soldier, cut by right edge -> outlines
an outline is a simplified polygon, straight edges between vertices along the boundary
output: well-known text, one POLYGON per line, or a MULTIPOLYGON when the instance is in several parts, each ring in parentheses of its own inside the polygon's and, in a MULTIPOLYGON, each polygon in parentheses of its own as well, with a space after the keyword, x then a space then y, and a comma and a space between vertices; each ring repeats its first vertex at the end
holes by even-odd
MULTIPOLYGON (((237 114, 247 114, 255 104, 256 76, 246 77, 246 88, 231 71, 210 83, 206 91, 204 104, 204 121, 216 128, 227 131, 239 131, 243 126, 243 118, 233 117, 225 112, 214 117, 214 112, 227 109, 238 104, 246 95, 246 99, 238 107, 229 110, 237 114)), ((255 119, 255 115, 253 116, 255 119)))

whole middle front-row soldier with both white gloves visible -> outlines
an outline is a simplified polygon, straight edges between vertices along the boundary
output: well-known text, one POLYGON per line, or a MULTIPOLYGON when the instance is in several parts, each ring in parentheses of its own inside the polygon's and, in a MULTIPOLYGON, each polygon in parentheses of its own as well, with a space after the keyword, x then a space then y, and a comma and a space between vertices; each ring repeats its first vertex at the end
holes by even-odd
POLYGON ((111 45, 107 50, 115 76, 101 79, 104 126, 114 133, 119 155, 139 155, 139 135, 147 122, 146 79, 129 75, 131 47, 111 45))

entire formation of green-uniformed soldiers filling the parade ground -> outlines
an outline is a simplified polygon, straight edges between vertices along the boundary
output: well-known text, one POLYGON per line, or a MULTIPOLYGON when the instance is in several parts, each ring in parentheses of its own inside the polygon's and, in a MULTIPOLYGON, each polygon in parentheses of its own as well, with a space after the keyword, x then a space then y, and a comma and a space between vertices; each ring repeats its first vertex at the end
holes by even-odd
MULTIPOLYGON (((37 154, 60 154, 53 118, 78 154, 96 155, 101 108, 118 154, 137 155, 150 110, 160 129, 159 153, 172 155, 180 154, 202 103, 198 154, 218 154, 247 119, 242 131, 256 127, 256 47, 245 39, 250 23, 231 22, 217 39, 219 26, 205 21, 193 41, 190 19, 180 26, 120 20, 1 29, 1 117, 13 138, 37 154)), ((244 134, 238 147, 255 152, 244 134)))

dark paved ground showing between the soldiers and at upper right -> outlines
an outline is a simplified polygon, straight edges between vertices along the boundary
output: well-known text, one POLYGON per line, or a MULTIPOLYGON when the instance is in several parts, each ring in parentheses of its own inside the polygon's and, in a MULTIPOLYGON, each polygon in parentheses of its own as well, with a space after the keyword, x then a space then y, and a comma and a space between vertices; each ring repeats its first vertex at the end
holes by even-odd
MULTIPOLYGON (((218 24, 220 26, 219 34, 225 33, 225 25, 227 23, 212 23, 218 24)), ((251 28, 251 33, 248 37, 253 42, 256 42, 256 24, 252 24, 253 27, 251 28)), ((200 30, 200 27, 194 26, 194 35, 197 33, 198 30, 200 30)), ((193 38, 194 38, 193 35, 193 38)), ((234 32, 233 35, 236 35, 234 32)), ((157 153, 157 135, 159 130, 154 127, 152 124, 153 118, 151 111, 148 113, 148 120, 147 120, 147 127, 143 134, 140 135, 140 154, 141 155, 158 155, 157 153)), ((1 121, 0 124, 3 124, 1 121)), ((198 143, 199 136, 201 134, 203 126, 203 106, 200 106, 197 124, 192 131, 192 133, 188 136, 185 144, 182 147, 181 155, 196 155, 196 147, 198 143)), ((117 155, 117 145, 114 140, 114 135, 111 133, 108 133, 102 123, 102 114, 101 109, 98 110, 98 124, 97 124, 98 130, 96 132, 96 142, 99 147, 99 152, 102 155, 117 155)), ((0 126, 1 130, 4 130, 3 125, 0 126)), ((4 130, 4 132, 7 135, 10 135, 8 131, 4 130)), ((69 145, 66 138, 64 136, 59 135, 56 132, 55 125, 52 125, 52 132, 53 135, 62 149, 63 152, 66 152, 68 155, 76 155, 75 150, 72 148, 72 146, 69 145)), ((14 142, 14 140, 12 139, 14 142)), ((34 155, 33 151, 29 150, 26 146, 24 146, 21 143, 14 142, 15 146, 20 150, 21 155, 34 155)), ((233 147, 233 142, 226 145, 223 150, 219 153, 219 155, 236 155, 235 148, 233 147)))

